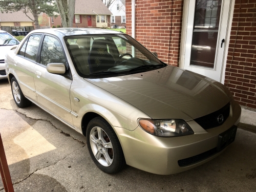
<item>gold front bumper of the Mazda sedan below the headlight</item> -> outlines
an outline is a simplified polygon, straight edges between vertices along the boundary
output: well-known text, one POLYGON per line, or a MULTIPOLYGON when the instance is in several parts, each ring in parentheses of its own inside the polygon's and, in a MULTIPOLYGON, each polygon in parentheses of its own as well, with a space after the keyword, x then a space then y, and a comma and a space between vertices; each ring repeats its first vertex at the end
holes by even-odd
POLYGON ((199 166, 220 155, 223 150, 214 152, 214 149, 218 147, 219 135, 238 124, 240 115, 240 106, 233 103, 228 119, 221 126, 204 130, 194 120, 189 121, 187 123, 195 134, 181 137, 157 137, 146 133, 140 127, 134 131, 120 127, 114 127, 114 130, 122 145, 126 164, 146 172, 169 175, 199 166), (209 155, 199 161, 185 166, 180 163, 180 160, 208 151, 210 151, 209 155))

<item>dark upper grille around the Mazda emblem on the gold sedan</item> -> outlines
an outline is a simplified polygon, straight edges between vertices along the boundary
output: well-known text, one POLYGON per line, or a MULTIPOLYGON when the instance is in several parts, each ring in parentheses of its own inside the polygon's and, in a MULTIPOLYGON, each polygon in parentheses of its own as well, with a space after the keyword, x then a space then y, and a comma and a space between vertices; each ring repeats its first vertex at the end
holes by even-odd
POLYGON ((227 118, 229 116, 229 112, 230 112, 230 103, 227 103, 220 110, 218 110, 214 113, 205 115, 203 117, 199 117, 199 118, 195 119, 195 121, 201 127, 203 127, 203 129, 205 129, 205 130, 211 129, 211 128, 214 128, 216 126, 222 125, 227 120, 227 118), (220 115, 223 115, 223 121, 222 122, 220 122, 220 120, 218 121, 218 117, 220 117, 220 115))

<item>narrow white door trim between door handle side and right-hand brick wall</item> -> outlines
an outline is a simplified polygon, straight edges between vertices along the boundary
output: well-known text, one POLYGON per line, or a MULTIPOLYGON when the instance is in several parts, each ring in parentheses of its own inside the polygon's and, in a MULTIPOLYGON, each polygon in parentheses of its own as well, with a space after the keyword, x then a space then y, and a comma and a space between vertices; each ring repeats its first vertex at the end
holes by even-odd
POLYGON ((226 39, 225 39, 225 47, 224 47, 224 53, 223 53, 223 60, 222 60, 222 69, 221 69, 221 77, 220 82, 224 84, 225 82, 225 73, 226 73, 226 66, 227 66, 227 54, 228 54, 228 48, 229 48, 229 40, 230 40, 230 33, 231 33, 231 27, 232 27, 232 21, 233 21, 233 14, 234 14, 234 2, 235 0, 230 0, 230 9, 229 9, 229 15, 228 15, 228 22, 227 22, 227 31, 226 31, 226 39))

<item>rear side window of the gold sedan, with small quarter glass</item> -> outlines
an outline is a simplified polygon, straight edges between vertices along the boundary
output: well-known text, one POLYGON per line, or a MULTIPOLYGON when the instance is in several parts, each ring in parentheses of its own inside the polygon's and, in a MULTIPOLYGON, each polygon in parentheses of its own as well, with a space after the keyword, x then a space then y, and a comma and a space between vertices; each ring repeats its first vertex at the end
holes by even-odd
POLYGON ((31 35, 29 39, 25 41, 18 54, 36 61, 36 55, 41 37, 42 35, 40 34, 31 35))

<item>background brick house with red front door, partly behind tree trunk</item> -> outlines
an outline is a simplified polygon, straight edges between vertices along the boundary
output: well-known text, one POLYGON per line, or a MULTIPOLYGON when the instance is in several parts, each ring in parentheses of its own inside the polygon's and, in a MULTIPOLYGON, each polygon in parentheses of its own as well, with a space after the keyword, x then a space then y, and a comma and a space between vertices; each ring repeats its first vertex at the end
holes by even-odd
MULTIPOLYGON (((101 0, 76 0, 73 27, 110 27, 111 11, 101 0)), ((50 27, 61 26, 60 15, 49 17, 50 27)))

